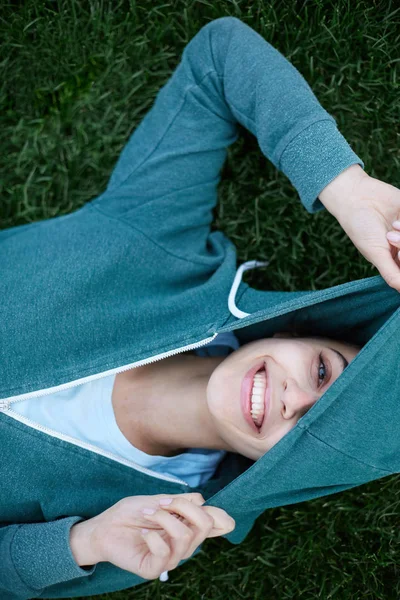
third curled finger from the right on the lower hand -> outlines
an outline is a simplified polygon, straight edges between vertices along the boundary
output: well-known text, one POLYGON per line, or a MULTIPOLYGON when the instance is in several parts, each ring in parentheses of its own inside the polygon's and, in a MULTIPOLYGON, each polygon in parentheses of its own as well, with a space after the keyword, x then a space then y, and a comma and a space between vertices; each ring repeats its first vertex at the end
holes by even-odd
POLYGON ((161 526, 170 536, 171 554, 164 570, 175 569, 191 545, 193 539, 192 530, 163 508, 157 510, 154 515, 145 515, 145 518, 146 521, 161 526))

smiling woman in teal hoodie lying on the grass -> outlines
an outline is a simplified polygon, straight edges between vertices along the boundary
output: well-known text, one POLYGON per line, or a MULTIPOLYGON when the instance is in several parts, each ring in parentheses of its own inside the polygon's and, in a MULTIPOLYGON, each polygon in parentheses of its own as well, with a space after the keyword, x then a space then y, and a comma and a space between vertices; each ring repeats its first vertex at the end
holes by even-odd
MULTIPOLYGON (((364 173, 304 79, 255 31, 231 17, 203 27, 107 190, 74 213, 0 234, 5 600, 126 589, 176 567, 206 537, 235 528, 240 541, 268 506, 389 472, 375 457, 358 460, 358 448, 350 458, 333 448, 335 414, 328 401, 319 407, 332 389, 346 392, 359 342, 376 331, 362 320, 372 304, 363 293, 384 297, 379 323, 398 294, 367 280, 293 293, 241 283, 231 302, 235 248, 209 226, 237 122, 304 206, 325 205, 398 285, 400 244, 385 236, 399 190, 364 173), (347 292, 354 305, 336 309, 347 292), (327 440, 309 431, 318 411, 329 413, 327 440), (263 484, 278 486, 273 501, 263 484)), ((357 443, 363 414, 351 422, 357 443)))

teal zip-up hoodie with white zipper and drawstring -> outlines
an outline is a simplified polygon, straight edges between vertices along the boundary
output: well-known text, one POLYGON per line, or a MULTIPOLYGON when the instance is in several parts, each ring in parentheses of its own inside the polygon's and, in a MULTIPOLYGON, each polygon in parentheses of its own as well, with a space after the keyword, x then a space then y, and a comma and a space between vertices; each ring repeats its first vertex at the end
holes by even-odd
POLYGON ((0 232, 2 600, 143 583, 110 563, 82 569, 69 547, 73 524, 126 496, 201 492, 235 519, 225 537, 239 544, 270 507, 399 472, 400 294, 379 276, 297 292, 242 281, 233 243, 210 231, 238 123, 310 213, 339 173, 363 166, 298 71, 224 17, 186 46, 104 193, 71 214, 0 232), (201 347, 218 333, 243 344, 285 330, 363 348, 268 453, 256 462, 227 453, 199 488, 13 411, 19 400, 201 347))

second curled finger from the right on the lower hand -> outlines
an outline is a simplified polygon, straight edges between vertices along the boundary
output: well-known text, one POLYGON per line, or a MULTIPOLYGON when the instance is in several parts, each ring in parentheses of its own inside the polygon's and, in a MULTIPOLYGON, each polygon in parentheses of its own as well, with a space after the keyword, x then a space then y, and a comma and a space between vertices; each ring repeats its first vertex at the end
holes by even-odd
POLYGON ((184 524, 188 525, 191 529, 192 540, 181 560, 182 558, 189 558, 196 548, 209 536, 214 526, 214 519, 204 510, 204 507, 188 502, 182 497, 176 498, 169 506, 164 506, 163 510, 184 517, 184 524))

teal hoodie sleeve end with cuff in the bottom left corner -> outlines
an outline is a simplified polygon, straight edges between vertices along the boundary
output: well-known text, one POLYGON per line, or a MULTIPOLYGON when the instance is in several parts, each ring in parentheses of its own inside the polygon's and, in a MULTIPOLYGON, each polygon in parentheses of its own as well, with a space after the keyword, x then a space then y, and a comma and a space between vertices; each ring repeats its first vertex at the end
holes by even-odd
POLYGON ((81 517, 0 528, 0 598, 29 600, 46 588, 91 575, 96 565, 81 568, 69 545, 70 529, 81 517))

